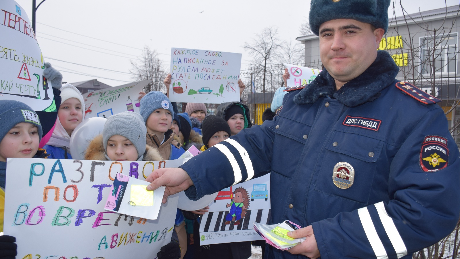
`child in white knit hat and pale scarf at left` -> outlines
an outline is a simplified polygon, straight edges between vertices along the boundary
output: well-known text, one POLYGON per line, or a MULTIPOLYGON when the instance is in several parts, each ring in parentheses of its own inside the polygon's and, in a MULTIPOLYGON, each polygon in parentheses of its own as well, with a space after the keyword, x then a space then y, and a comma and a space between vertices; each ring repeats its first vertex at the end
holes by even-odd
POLYGON ((43 147, 50 159, 72 159, 69 153, 70 135, 83 121, 85 102, 75 86, 66 83, 61 88, 61 106, 50 140, 43 147))

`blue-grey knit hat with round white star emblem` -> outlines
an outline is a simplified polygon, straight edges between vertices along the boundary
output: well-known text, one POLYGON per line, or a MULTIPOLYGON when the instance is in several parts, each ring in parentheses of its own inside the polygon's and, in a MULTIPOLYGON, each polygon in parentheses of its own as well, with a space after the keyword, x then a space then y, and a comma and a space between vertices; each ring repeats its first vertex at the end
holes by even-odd
POLYGON ((171 101, 166 97, 165 94, 157 91, 151 91, 142 97, 140 102, 140 113, 142 118, 144 118, 144 124, 147 123, 147 119, 150 114, 156 109, 163 108, 171 112, 171 116, 174 116, 173 105, 171 101))

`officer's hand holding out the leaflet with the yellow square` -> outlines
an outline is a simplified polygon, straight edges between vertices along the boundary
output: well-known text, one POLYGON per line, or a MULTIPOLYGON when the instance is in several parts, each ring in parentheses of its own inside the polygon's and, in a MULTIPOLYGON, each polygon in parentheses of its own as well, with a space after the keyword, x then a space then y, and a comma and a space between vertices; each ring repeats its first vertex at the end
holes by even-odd
POLYGON ((149 191, 156 190, 160 186, 166 186, 163 203, 166 203, 169 195, 177 194, 193 185, 192 179, 182 168, 157 169, 145 181, 151 182, 147 186, 149 191))

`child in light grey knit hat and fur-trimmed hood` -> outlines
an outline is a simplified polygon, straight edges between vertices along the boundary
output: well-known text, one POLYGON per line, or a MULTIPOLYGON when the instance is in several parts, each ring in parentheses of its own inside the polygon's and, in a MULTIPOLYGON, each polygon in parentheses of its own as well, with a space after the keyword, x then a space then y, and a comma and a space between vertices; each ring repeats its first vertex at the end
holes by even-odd
POLYGON ((101 135, 86 149, 86 160, 161 161, 160 153, 146 145, 147 129, 136 112, 121 112, 110 116, 101 135))

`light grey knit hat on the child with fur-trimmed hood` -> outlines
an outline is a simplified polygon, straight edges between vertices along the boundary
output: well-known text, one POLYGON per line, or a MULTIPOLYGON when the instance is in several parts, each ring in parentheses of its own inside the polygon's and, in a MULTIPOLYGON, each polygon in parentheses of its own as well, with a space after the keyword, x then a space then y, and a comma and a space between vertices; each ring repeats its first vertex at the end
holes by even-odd
POLYGON ((113 135, 121 135, 131 141, 138 152, 138 159, 145 153, 147 128, 144 120, 137 112, 120 112, 110 116, 102 131, 104 150, 107 153, 107 141, 113 135))

